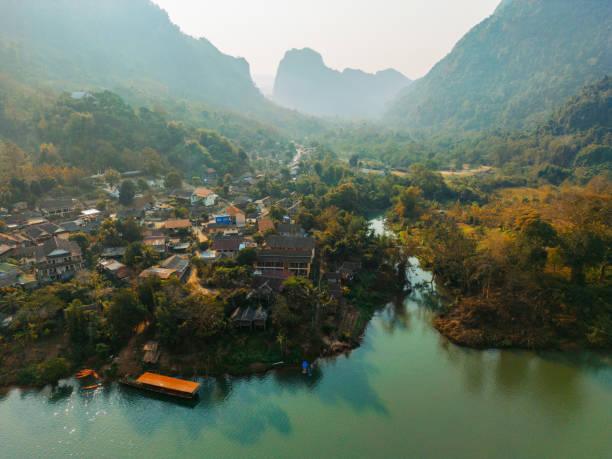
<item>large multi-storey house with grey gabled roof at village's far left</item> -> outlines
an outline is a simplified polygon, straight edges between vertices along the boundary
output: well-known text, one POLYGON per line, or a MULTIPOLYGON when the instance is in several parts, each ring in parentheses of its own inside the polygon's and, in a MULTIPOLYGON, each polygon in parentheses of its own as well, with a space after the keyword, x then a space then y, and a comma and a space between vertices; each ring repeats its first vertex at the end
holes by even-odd
POLYGON ((53 237, 34 248, 36 279, 66 280, 85 267, 76 242, 53 237))

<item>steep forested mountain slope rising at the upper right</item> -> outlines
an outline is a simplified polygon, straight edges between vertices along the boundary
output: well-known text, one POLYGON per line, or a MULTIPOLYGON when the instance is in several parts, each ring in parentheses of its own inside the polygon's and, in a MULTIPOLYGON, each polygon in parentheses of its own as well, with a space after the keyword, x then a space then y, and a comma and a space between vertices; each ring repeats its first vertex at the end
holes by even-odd
POLYGON ((388 119, 410 128, 522 128, 612 73, 612 2, 506 0, 424 78, 388 119))

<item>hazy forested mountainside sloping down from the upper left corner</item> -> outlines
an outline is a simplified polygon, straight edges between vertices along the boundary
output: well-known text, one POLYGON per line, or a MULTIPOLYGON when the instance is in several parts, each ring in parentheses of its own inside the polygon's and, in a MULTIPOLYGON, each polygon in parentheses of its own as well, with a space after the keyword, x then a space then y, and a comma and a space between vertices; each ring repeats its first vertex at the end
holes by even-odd
POLYGON ((183 34, 149 0, 0 0, 0 11, 2 72, 30 86, 185 98, 280 127, 307 122, 268 101, 244 59, 183 34))

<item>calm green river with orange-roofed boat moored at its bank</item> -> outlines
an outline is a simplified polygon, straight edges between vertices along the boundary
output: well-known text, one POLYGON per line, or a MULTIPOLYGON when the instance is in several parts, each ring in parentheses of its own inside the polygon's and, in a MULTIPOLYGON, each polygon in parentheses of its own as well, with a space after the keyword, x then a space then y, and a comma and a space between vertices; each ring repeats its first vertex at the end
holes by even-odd
POLYGON ((12 390, 0 456, 612 457, 609 354, 462 349, 431 327, 436 301, 421 287, 388 305, 312 377, 207 379, 195 405, 75 380, 12 390))

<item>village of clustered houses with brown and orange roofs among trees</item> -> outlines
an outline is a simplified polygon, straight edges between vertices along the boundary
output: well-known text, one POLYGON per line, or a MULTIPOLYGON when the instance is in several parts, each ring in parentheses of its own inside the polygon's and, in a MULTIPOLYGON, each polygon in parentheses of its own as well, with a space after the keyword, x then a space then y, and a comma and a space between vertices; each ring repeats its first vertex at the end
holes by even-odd
MULTIPOLYGON (((291 179, 298 176, 300 158, 307 153, 300 149, 288 163, 291 179)), ((234 296, 242 300, 230 302, 233 306, 226 308, 223 321, 246 333, 270 327, 270 307, 291 278, 308 280, 318 292, 311 302, 332 306, 327 311, 335 313, 346 304, 347 285, 360 271, 361 260, 326 263, 316 235, 298 223, 302 203, 296 192, 259 199, 249 194, 258 181, 267 179, 264 174, 246 172, 228 183, 227 177, 218 178, 208 169, 199 184, 180 180, 172 182, 173 187, 167 179, 140 171, 116 175, 112 183, 106 180, 109 174, 91 177, 96 199, 56 196, 35 206, 18 203, 10 211, 0 209, 0 289, 33 292, 56 283, 78 284, 95 274, 112 287, 105 298, 79 307, 101 317, 113 291, 137 289, 152 279, 158 286, 178 282, 192 296, 223 297, 224 304, 240 290, 244 294, 234 296), (147 191, 134 193, 128 204, 121 194, 124 184, 134 181, 146 181, 147 191)), ((0 311, 0 333, 10 332, 18 314, 0 311)), ((351 336, 359 313, 351 308, 346 316, 334 318, 342 330, 326 325, 333 330, 324 339, 327 352, 351 346, 342 336, 351 336)), ((143 325, 135 330, 142 332, 143 325)), ((146 366, 160 360, 158 338, 155 333, 146 336, 139 348, 130 347, 127 358, 125 353, 115 356, 116 363, 130 361, 123 373, 134 368, 133 361, 146 366)), ((287 337, 281 339, 281 348, 286 347, 283 340, 287 337)))

